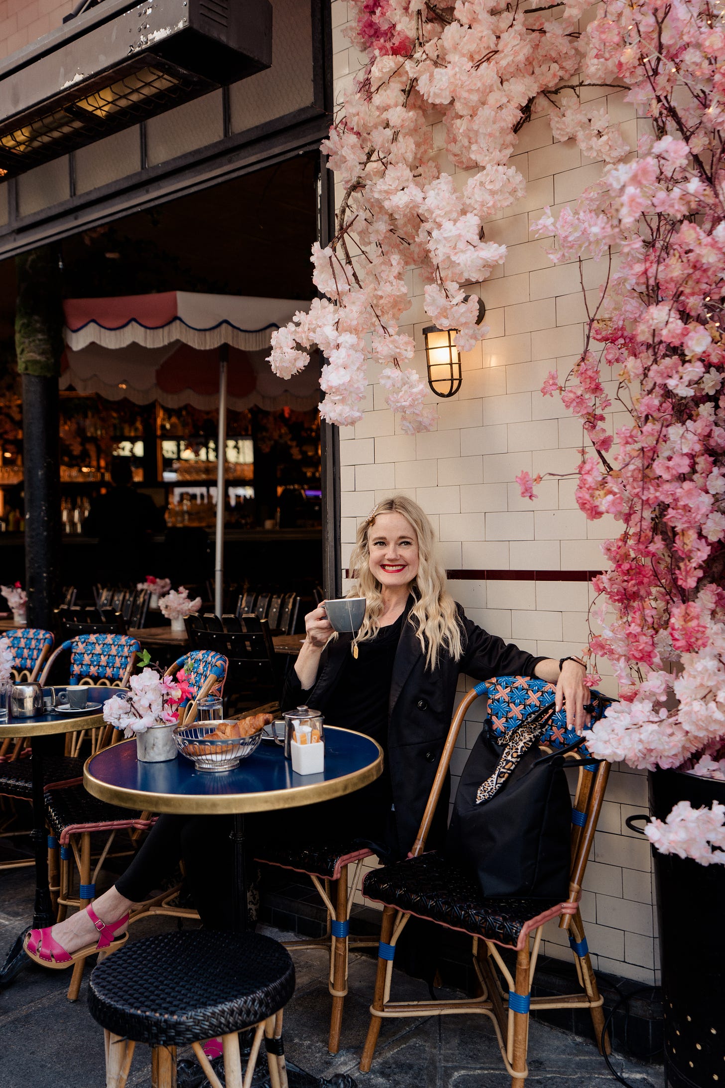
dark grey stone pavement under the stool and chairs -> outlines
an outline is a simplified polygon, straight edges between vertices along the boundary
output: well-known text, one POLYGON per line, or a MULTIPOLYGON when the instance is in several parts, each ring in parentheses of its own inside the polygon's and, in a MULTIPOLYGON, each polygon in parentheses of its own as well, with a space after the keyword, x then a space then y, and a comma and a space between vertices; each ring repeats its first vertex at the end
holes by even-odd
MULTIPOLYGON (((30 869, 0 871, 0 954, 27 924, 33 906, 30 869)), ((146 918, 132 928, 132 940, 167 929, 168 918, 146 918)), ((190 925, 190 923, 185 923, 190 925)), ((271 936, 284 937, 264 927, 271 936)), ((289 936, 289 935, 287 935, 289 936)), ((93 961, 91 961, 92 963, 93 961)), ((297 990, 285 1012, 287 1055, 317 1075, 350 1073, 359 1088, 510 1088, 486 1017, 439 1016, 385 1021, 372 1072, 358 1072, 367 1029, 367 1006, 375 963, 354 955, 346 1001, 340 1052, 327 1052, 329 994, 326 960, 321 952, 295 953, 297 990)), ((89 972, 88 972, 89 974, 89 972)), ((80 999, 68 1002, 70 972, 32 965, 0 991, 0 1088, 103 1088, 103 1037, 86 1004, 87 976, 80 999)), ((443 996, 446 991, 439 991, 443 996)), ((393 994, 403 1000, 427 998, 423 982, 396 972, 393 994)), ((179 1051, 179 1058, 185 1056, 179 1051)), ((615 1068, 636 1088, 663 1088, 662 1071, 615 1056, 615 1068)), ((615 1079, 592 1043, 532 1023, 528 1088, 613 1088, 615 1079)), ((150 1088, 150 1051, 139 1047, 128 1088, 150 1088)))

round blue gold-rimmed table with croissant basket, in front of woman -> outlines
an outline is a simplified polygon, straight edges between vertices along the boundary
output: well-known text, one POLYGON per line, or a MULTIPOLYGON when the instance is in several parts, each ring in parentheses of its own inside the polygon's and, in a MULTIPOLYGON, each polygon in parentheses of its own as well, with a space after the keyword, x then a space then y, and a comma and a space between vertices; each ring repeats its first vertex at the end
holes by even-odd
POLYGON ((140 763, 136 741, 125 741, 90 756, 84 786, 101 801, 126 808, 185 815, 234 815, 234 928, 247 928, 243 814, 295 808, 352 793, 383 771, 383 750, 370 737, 325 726, 325 769, 297 775, 282 746, 262 740, 238 767, 196 770, 186 756, 164 763, 140 763))

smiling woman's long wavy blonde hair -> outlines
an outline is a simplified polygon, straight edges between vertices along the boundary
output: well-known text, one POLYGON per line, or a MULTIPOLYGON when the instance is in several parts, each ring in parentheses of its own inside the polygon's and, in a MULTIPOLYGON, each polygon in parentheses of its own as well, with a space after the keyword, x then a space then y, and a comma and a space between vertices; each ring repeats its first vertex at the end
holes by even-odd
POLYGON ((436 667, 441 650, 447 650, 458 662, 463 652, 461 627, 455 602, 446 589, 446 571, 436 558, 433 526, 427 514, 405 495, 393 495, 378 503, 358 529, 355 547, 350 556, 350 570, 354 571, 355 584, 348 596, 365 597, 367 608, 355 641, 375 638, 383 616, 383 586, 371 572, 367 541, 370 530, 380 514, 402 514, 417 537, 418 568, 411 583, 415 602, 408 622, 415 627, 427 667, 436 667))

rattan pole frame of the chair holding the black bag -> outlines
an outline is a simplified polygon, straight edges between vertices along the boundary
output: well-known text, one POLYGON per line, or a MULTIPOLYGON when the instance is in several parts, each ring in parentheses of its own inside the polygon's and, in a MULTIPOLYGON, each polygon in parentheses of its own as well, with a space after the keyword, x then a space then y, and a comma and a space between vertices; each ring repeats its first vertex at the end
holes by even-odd
MULTIPOLYGON (((461 701, 453 716, 423 820, 411 854, 409 855, 411 857, 420 856, 425 850, 425 842, 430 831, 433 817, 461 725, 468 707, 485 690, 485 683, 477 684, 461 701)), ((574 807, 579 813, 586 814, 586 823, 583 827, 577 825, 572 826, 572 868, 568 899, 562 904, 559 926, 561 929, 570 932, 570 943, 572 943, 574 963, 582 986, 582 992, 551 998, 530 997, 536 962, 541 947, 543 925, 536 927, 530 934, 526 935, 523 942, 520 940, 518 943, 522 947, 516 951, 516 966, 513 974, 507 966, 495 941, 471 935, 473 967, 478 980, 478 988, 480 989, 480 996, 477 998, 447 1001, 391 1001, 390 989, 393 961, 389 959, 389 954, 387 954, 388 949, 386 948, 386 955, 379 955, 377 961, 375 990, 373 1003, 370 1006, 370 1027, 360 1060, 361 1072, 370 1072, 383 1019, 405 1018, 410 1016, 446 1016, 463 1013, 484 1015, 492 1022, 503 1064, 511 1076, 512 1088, 521 1088, 522 1081, 528 1076, 526 1055, 528 1050, 529 1012, 516 1012, 510 1007, 510 993, 514 993, 521 999, 517 1002, 518 1004, 527 1005, 534 1012, 543 1009, 588 1009, 591 1014, 599 1049, 601 1051, 603 1046, 605 1052, 610 1052, 609 1037, 604 1031, 603 1000, 599 993, 597 979, 587 951, 584 924, 578 906, 587 861, 604 799, 610 765, 609 763, 601 762, 598 764, 596 770, 591 770, 589 766, 585 765, 576 756, 567 756, 567 758, 574 758, 575 762, 580 764, 574 807), (578 949, 575 949, 574 944, 578 945, 578 949), (502 985, 502 980, 504 985, 502 985)), ((410 916, 409 913, 400 911, 396 906, 385 906, 380 926, 380 944, 395 949, 410 916)))

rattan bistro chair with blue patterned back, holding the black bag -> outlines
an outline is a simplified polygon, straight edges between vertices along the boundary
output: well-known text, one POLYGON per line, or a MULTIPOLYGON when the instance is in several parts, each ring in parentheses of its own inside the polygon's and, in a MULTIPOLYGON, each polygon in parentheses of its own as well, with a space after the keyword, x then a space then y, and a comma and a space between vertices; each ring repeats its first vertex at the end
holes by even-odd
MULTIPOLYGON (((542 680, 525 677, 498 677, 476 684, 460 703, 451 722, 411 855, 405 861, 372 870, 363 880, 363 894, 384 906, 370 1028, 360 1062, 364 1073, 370 1071, 380 1023, 387 1017, 457 1013, 488 1016, 493 1023, 512 1088, 521 1088, 528 1075, 529 1011, 588 1009, 600 1051, 603 1048, 609 1053, 610 1050, 604 1031, 602 998, 597 988, 579 911, 584 874, 610 765, 592 759, 584 745, 565 755, 566 759, 578 764, 578 781, 572 811, 568 897, 563 903, 526 898, 485 898, 470 873, 442 852, 425 852, 426 837, 461 725, 466 710, 480 695, 487 695, 489 701, 484 728, 488 729, 492 739, 498 740, 518 725, 528 710, 551 704, 555 689, 542 680), (445 1001, 390 1000, 396 944, 411 915, 471 937, 479 997, 445 1001), (568 934, 582 990, 564 996, 532 997, 543 926, 554 918, 559 918, 560 928, 568 934), (510 966, 510 961, 503 959, 502 949, 515 953, 515 966, 510 966)), ((601 716, 607 702, 605 696, 592 692, 596 717, 601 716)), ((574 730, 566 729, 565 714, 559 712, 539 743, 549 751, 563 751, 578 740, 574 730)))

